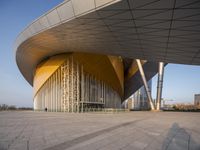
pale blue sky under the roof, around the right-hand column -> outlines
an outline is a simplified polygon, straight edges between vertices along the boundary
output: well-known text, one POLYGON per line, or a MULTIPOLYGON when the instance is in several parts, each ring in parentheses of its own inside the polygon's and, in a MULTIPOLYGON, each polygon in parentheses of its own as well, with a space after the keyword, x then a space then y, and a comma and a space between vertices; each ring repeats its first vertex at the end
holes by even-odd
MULTIPOLYGON (((153 78, 152 96, 156 97, 157 75, 153 78)), ((163 98, 168 103, 193 103, 200 93, 200 66, 168 64, 165 67, 163 98)))

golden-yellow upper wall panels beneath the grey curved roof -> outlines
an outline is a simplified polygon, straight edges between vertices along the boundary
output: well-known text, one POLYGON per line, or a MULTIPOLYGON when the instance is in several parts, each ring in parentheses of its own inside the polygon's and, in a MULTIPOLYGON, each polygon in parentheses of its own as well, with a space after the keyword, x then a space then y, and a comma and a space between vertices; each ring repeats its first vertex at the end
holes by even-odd
POLYGON ((94 76, 99 81, 104 81, 108 86, 117 91, 120 97, 123 97, 124 68, 121 59, 113 56, 90 53, 60 54, 42 61, 37 65, 34 74, 34 95, 69 57, 73 57, 74 62, 82 65, 85 72, 94 76))

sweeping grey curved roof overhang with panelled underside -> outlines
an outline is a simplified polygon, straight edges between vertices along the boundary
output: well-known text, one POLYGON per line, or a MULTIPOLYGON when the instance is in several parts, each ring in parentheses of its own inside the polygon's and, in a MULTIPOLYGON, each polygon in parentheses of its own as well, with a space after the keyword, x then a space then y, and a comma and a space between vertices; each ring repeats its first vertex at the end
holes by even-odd
POLYGON ((31 85, 42 60, 67 52, 199 65, 199 4, 195 0, 66 0, 18 36, 16 62, 31 85))

